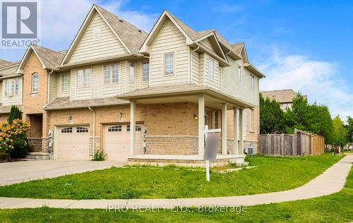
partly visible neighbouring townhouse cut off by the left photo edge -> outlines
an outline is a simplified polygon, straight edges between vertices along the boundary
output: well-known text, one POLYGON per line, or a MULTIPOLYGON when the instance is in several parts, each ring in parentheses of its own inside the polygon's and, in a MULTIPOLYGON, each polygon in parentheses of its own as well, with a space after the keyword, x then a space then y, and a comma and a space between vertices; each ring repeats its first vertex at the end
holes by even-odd
POLYGON ((18 62, 0 60, 0 123, 8 121, 11 106, 22 107, 22 76, 16 73, 18 62))

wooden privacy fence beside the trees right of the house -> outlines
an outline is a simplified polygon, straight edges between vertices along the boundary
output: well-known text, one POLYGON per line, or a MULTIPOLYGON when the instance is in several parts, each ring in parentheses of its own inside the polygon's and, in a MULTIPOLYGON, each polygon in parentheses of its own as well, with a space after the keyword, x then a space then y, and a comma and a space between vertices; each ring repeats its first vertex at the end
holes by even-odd
POLYGON ((294 130, 294 134, 260 135, 259 152, 261 155, 298 157, 319 155, 324 152, 325 139, 321 135, 294 130))

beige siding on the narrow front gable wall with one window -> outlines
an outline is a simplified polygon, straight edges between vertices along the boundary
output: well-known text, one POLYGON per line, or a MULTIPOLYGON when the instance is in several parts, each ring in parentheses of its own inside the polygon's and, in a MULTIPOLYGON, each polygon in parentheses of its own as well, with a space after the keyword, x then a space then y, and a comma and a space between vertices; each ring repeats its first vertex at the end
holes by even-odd
POLYGON ((189 83, 190 51, 186 38, 167 20, 150 45, 150 85, 189 83), (174 74, 164 76, 164 54, 174 52, 174 74))

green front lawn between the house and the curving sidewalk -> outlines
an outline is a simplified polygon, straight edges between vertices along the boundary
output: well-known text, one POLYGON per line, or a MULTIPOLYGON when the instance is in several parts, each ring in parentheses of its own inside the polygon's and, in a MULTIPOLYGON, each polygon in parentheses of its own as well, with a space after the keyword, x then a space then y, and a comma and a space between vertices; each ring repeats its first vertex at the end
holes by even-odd
MULTIPOLYGON (((114 199, 195 198, 246 195, 297 188, 341 157, 249 157, 257 168, 211 173, 175 167, 112 168, 0 187, 0 196, 18 198, 114 199)), ((199 169, 200 170, 200 169, 199 169)))

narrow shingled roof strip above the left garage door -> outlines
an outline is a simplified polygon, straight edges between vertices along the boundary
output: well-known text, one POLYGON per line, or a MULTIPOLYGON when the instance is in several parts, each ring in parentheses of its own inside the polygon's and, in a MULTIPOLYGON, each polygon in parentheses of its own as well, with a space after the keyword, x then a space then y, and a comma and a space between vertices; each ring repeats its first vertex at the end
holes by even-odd
POLYGON ((114 105, 129 104, 125 100, 116 97, 105 97, 90 100, 70 100, 70 97, 56 97, 54 101, 44 107, 46 111, 58 111, 64 109, 87 109, 88 107, 109 107, 114 105))

